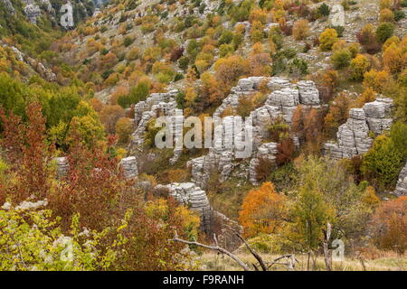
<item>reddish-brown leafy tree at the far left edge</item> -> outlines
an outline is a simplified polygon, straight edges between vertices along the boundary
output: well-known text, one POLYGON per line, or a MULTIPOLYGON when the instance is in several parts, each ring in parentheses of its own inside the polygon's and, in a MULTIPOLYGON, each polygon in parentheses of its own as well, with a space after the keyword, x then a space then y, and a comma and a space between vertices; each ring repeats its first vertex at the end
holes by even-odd
POLYGON ((7 152, 5 162, 9 164, 5 172, 14 174, 14 180, 0 185, 0 200, 9 197, 20 202, 30 196, 42 200, 50 189, 52 146, 46 144, 45 117, 41 110, 38 102, 29 104, 25 110, 28 118, 25 123, 21 117, 11 111, 6 114, 0 107, 4 128, 0 147, 7 152), (11 191, 13 193, 9 193, 11 191))

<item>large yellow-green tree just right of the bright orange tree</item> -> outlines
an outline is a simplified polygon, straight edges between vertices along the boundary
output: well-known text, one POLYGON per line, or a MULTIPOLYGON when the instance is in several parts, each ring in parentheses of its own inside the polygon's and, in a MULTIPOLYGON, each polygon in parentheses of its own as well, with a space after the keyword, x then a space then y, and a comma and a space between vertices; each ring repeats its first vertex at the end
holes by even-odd
POLYGON ((365 202, 366 185, 356 185, 343 163, 308 156, 295 162, 299 180, 295 202, 289 210, 287 238, 302 251, 316 250, 326 239, 346 238, 350 247, 364 238, 372 212, 365 202))

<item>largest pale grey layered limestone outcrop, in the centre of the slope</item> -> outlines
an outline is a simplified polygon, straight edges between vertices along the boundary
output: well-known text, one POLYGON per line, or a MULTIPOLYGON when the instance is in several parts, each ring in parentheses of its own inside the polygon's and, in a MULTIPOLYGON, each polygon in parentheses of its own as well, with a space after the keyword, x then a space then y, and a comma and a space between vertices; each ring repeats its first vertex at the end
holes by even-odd
MULTIPOLYGON (((261 84, 267 85, 271 92, 267 96, 264 105, 251 111, 250 116, 246 118, 246 120, 249 120, 246 126, 251 128, 252 131, 253 153, 251 154, 253 159, 246 176, 249 176, 253 183, 256 182, 255 166, 259 162, 259 158, 267 155, 267 159, 274 161, 274 154, 277 153, 276 144, 262 144, 269 136, 268 126, 278 117, 283 117, 290 124, 294 111, 299 105, 320 107, 319 92, 313 81, 303 80, 293 84, 289 79, 278 77, 250 77, 239 80, 238 85, 231 89, 231 94, 224 98, 221 106, 215 110, 213 118, 221 120, 222 114, 227 108, 236 111, 240 99, 250 98, 255 95, 260 90, 261 84)), ((233 119, 234 117, 231 116, 222 118, 222 121, 220 121, 222 131, 233 132, 233 119)), ((247 135, 246 131, 247 129, 242 132, 242 135, 247 135)), ((296 146, 298 146, 298 139, 296 146)), ((237 159, 235 147, 220 149, 219 146, 216 146, 215 140, 213 141, 213 148, 209 149, 208 154, 191 160, 187 163, 187 167, 191 169, 193 182, 202 188, 206 188, 206 184, 213 172, 220 173, 221 181, 226 180, 233 169, 239 166, 239 163, 235 162, 237 159)))

